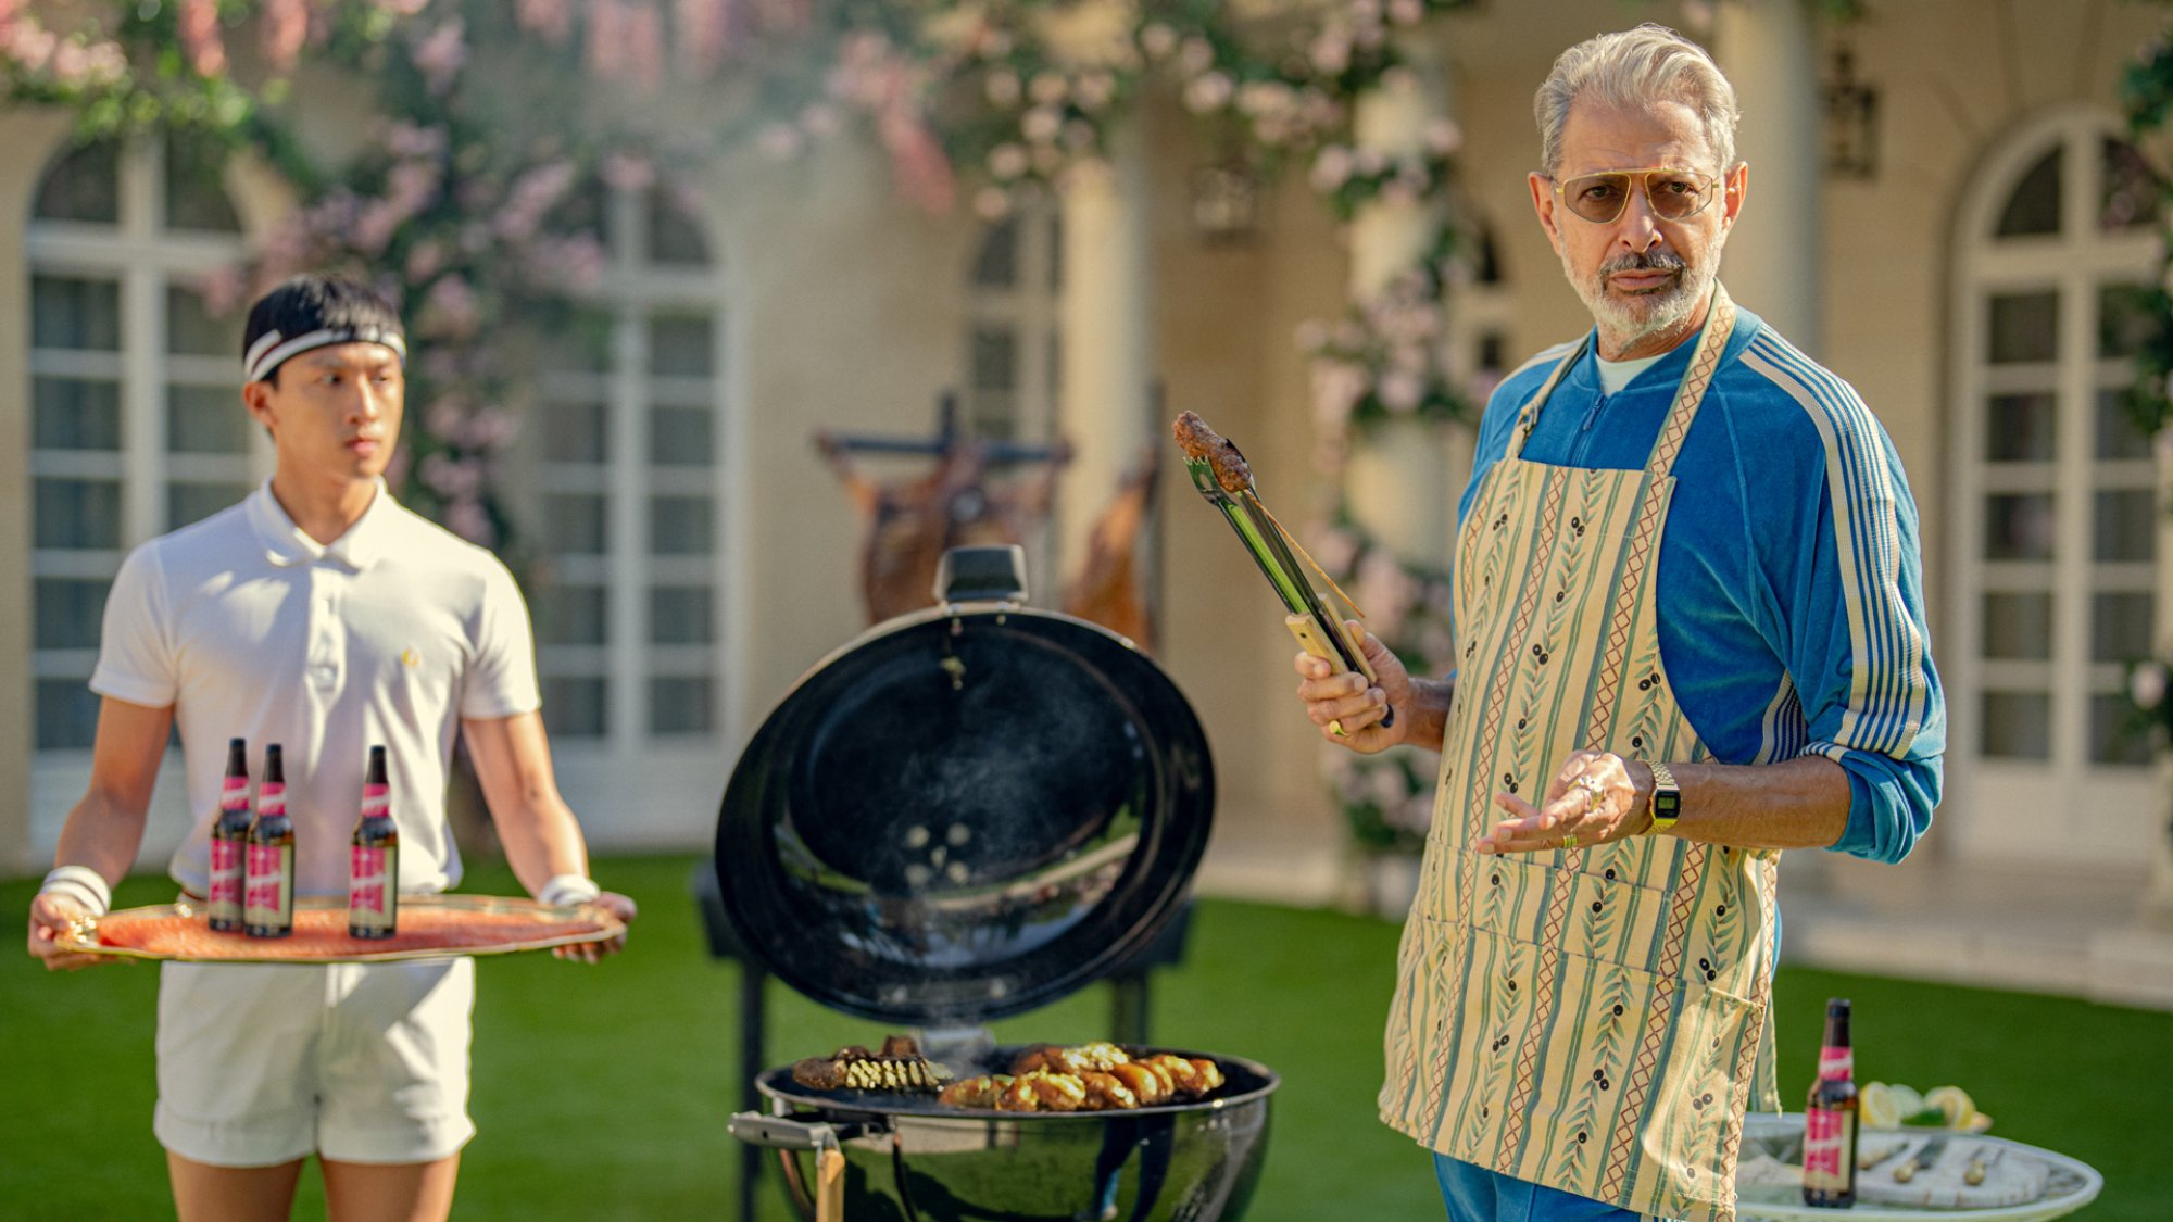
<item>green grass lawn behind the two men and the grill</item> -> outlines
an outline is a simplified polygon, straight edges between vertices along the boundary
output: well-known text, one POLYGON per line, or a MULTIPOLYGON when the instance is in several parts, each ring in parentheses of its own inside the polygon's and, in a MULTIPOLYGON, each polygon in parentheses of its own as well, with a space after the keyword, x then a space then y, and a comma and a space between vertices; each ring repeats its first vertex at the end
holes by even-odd
MULTIPOLYGON (((467 1148, 463 1220, 730 1218, 737 1144, 724 1118, 737 970, 708 959, 687 881, 691 857, 611 859, 600 878, 641 902, 630 950, 585 968, 543 955, 482 961, 476 1013, 480 1135, 467 1148)), ((469 891, 513 889, 502 870, 469 891)), ((33 883, 0 883, 22 913, 33 883)), ((133 878, 122 905, 172 898, 133 878)), ((20 922, 17 918, 11 918, 20 922)), ((15 924, 15 928, 22 928, 15 924)), ((1380 1024, 1397 928, 1341 913, 1202 902, 1182 970, 1156 978, 1154 1037, 1254 1057, 1284 1074, 1254 1222, 1441 1218, 1425 1159, 1373 1120, 1380 1024)), ((2106 1174, 2093 1220, 2173 1218, 2173 1013, 1838 976, 1788 968, 1778 983, 1782 1094, 1810 1083, 1827 996, 1856 1000, 1858 1078, 1962 1083, 1995 1133, 2075 1152, 2106 1174)), ((0 955, 0 1218, 169 1218, 150 1137, 156 970, 48 976, 0 955)), ((1106 1035, 1095 987, 1023 1020, 1006 1039, 1106 1035)), ((871 1044, 882 1031, 776 989, 771 1061, 871 1044)), ((300 1218, 322 1218, 304 1176, 300 1218)), ((782 1220, 776 1183, 765 1218, 782 1220)))

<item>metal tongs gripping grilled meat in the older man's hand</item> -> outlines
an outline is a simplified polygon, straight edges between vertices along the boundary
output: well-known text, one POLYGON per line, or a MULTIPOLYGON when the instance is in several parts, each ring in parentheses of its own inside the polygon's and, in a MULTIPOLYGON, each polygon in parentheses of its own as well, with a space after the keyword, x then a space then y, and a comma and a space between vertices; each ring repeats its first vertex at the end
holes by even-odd
MULTIPOLYGON (((1289 611, 1282 622, 1297 637, 1297 644, 1308 654, 1328 659, 1328 665, 1336 674, 1356 670, 1367 683, 1373 683, 1376 674, 1373 665, 1365 659, 1365 648, 1328 609, 1328 602, 1321 600, 1312 581, 1297 565, 1304 548, 1297 548, 1282 524, 1276 522, 1276 515, 1260 504, 1260 491, 1252 481, 1252 463, 1245 461, 1236 444, 1208 428, 1208 422, 1199 420, 1195 411, 1178 413, 1169 431, 1178 439, 1178 448, 1184 450, 1184 470, 1193 476, 1193 487, 1199 489, 1199 496, 1208 504, 1221 511, 1230 528, 1236 531, 1239 541, 1252 552, 1254 563, 1267 574, 1267 583, 1276 587, 1282 607, 1289 611)), ((1328 574, 1321 576, 1326 578, 1328 574)), ((1334 581, 1328 585, 1334 587, 1334 581)), ((1343 591, 1336 589, 1336 594, 1341 596, 1343 591)), ((1343 600, 1349 602, 1349 598, 1343 600)), ((1352 611, 1358 609, 1352 607, 1352 611)), ((1382 709, 1380 724, 1395 724, 1393 707, 1382 709)), ((1336 733, 1343 731, 1339 728, 1336 733)))

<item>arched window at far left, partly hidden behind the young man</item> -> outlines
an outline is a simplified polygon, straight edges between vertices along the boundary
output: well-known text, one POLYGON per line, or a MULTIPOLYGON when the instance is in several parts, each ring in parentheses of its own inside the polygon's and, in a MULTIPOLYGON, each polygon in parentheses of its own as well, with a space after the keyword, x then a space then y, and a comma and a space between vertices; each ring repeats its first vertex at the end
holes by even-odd
POLYGON ((128 548, 243 496, 241 320, 198 285, 241 257, 224 152, 91 144, 39 180, 30 263, 30 585, 39 772, 87 752, 106 589, 128 548))

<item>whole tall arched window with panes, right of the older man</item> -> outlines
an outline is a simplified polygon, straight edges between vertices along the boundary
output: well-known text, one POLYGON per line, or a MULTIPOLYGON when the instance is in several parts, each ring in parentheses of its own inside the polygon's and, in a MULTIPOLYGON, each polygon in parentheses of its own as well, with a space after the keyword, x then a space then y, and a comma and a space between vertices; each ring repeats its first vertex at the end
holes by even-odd
POLYGON ((2121 694, 2123 663, 2151 652, 2162 509, 2123 394, 2158 239, 2149 178, 2117 130, 2084 109, 2030 124, 1958 217, 1958 631, 1940 663, 1962 852, 2125 855, 2162 815, 2121 694))

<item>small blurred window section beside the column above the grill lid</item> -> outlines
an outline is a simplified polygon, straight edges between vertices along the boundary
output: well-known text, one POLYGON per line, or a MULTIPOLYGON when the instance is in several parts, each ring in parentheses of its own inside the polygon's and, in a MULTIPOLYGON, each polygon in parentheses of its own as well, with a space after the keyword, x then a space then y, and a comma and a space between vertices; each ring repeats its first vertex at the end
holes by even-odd
POLYGON ((991 441, 1050 441, 1063 376, 1063 228, 1054 204, 989 224, 967 272, 965 426, 991 441))

